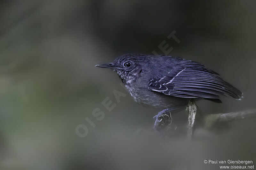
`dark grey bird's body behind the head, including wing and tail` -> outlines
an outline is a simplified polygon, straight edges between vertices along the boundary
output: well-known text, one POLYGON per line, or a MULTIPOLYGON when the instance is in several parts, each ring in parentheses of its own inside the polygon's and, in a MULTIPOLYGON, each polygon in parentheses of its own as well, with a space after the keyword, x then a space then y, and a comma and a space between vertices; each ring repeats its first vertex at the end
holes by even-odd
POLYGON ((129 90, 138 103, 174 108, 191 98, 242 98, 242 92, 201 63, 170 56, 145 56, 145 60, 129 90))

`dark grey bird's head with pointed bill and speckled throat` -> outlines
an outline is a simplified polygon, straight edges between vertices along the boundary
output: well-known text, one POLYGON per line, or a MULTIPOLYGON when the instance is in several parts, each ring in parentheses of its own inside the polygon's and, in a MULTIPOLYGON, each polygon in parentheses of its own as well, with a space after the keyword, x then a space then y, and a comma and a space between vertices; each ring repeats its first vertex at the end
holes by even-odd
POLYGON ((111 68, 117 72, 124 84, 130 83, 141 75, 147 55, 124 54, 107 64, 97 64, 95 67, 111 68))

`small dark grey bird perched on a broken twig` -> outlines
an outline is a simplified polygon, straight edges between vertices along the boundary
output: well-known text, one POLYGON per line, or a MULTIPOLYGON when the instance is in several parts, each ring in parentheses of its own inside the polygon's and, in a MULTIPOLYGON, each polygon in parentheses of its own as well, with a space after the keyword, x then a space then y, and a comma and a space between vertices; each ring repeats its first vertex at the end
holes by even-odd
POLYGON ((221 103, 220 96, 243 98, 241 91, 222 80, 215 71, 177 57, 124 54, 96 67, 116 71, 136 102, 164 109, 158 115, 185 109, 191 99, 221 103))

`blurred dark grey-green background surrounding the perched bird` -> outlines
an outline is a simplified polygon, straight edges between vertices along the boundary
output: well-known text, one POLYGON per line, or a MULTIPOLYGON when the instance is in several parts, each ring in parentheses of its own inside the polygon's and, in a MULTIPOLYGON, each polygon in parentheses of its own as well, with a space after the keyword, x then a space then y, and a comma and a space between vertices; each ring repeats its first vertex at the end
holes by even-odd
POLYGON ((220 169, 204 159, 256 162, 255 119, 201 130, 191 144, 185 135, 163 138, 152 130, 160 110, 138 105, 116 73, 94 67, 124 53, 164 54, 158 46, 165 40, 169 55, 201 62, 244 92, 242 101, 198 102, 202 113, 255 109, 255 7, 253 0, 0 1, 0 169, 220 169), (180 43, 167 38, 173 31, 180 43), (117 103, 113 90, 127 96, 117 103), (101 104, 106 97, 116 104, 110 112, 101 104), (95 108, 105 113, 100 121, 95 108))

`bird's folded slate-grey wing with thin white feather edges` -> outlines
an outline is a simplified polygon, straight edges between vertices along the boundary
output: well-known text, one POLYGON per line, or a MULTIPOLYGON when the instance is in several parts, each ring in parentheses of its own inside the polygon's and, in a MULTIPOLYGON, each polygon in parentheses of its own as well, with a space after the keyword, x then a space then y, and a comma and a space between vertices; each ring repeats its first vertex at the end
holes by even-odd
POLYGON ((217 99, 220 95, 230 95, 241 99, 242 92, 223 81, 219 74, 203 64, 187 61, 175 71, 155 77, 149 81, 149 89, 185 98, 217 99))

